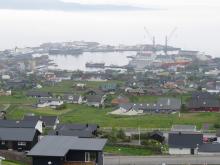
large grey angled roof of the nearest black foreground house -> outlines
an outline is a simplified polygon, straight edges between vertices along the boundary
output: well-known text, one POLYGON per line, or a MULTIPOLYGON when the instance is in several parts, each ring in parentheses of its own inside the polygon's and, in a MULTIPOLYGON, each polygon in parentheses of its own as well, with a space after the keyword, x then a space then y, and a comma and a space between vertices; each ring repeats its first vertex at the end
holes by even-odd
POLYGON ((106 141, 71 136, 45 136, 32 148, 28 156, 64 157, 70 150, 102 151, 106 141))

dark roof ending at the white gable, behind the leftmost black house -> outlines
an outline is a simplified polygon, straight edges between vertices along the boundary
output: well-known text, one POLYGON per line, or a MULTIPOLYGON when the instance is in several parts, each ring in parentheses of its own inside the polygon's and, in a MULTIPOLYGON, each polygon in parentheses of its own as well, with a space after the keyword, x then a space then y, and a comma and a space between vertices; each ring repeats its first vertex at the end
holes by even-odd
POLYGON ((38 121, 0 120, 0 128, 35 128, 38 121))

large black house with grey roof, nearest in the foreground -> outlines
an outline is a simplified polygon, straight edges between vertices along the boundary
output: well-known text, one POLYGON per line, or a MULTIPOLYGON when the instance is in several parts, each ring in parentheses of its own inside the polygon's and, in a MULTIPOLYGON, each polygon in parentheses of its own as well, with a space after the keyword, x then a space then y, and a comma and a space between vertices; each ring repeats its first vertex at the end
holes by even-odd
POLYGON ((33 165, 103 165, 106 139, 45 136, 28 153, 33 165))

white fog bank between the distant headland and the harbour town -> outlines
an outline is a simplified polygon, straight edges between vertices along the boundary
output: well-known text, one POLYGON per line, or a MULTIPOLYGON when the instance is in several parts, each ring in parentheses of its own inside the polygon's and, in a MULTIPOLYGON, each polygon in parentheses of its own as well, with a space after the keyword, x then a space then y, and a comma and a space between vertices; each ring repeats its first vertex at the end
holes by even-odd
POLYGON ((174 27, 169 45, 220 56, 219 8, 171 8, 146 11, 62 12, 0 10, 0 50, 37 46, 43 42, 97 41, 103 44, 158 44, 174 27))

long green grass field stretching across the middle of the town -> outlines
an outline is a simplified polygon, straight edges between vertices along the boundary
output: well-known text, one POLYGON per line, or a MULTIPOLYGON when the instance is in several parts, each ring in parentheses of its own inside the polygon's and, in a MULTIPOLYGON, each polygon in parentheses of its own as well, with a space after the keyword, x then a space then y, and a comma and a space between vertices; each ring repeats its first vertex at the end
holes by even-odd
POLYGON ((201 128, 203 124, 220 123, 220 113, 182 113, 154 114, 142 116, 114 116, 107 113, 111 108, 97 109, 86 105, 67 105, 67 109, 53 110, 50 108, 34 109, 25 106, 11 106, 8 118, 21 119, 27 113, 36 115, 57 115, 62 123, 96 123, 101 127, 115 128, 170 128, 173 124, 195 124, 201 128))

